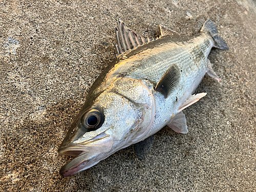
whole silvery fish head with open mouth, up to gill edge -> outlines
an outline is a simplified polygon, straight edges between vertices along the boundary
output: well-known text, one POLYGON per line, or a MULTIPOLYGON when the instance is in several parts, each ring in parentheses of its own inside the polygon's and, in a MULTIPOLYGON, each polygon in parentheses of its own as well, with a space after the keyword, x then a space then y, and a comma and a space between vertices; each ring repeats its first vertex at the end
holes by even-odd
POLYGON ((152 96, 141 81, 122 78, 85 103, 58 153, 75 156, 60 169, 70 176, 141 140, 155 116, 152 96))

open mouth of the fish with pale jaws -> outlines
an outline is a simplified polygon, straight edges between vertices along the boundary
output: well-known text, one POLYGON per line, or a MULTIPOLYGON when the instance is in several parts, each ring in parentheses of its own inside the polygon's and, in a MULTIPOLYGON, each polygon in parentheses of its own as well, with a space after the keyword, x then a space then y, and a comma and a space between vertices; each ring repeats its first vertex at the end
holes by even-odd
POLYGON ((59 154, 75 156, 75 158, 60 168, 60 175, 68 177, 94 166, 108 157, 107 154, 112 146, 113 138, 105 133, 83 143, 61 146, 58 149, 59 154))

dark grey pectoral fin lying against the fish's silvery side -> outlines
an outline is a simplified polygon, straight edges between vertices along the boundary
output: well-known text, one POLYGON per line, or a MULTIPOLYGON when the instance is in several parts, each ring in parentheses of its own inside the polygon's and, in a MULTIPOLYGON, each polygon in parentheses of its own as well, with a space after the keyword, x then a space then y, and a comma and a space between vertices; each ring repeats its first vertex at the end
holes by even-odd
POLYGON ((165 72, 160 81, 157 83, 155 90, 159 91, 168 97, 172 92, 173 88, 177 85, 180 79, 180 70, 177 64, 170 66, 170 68, 165 72))

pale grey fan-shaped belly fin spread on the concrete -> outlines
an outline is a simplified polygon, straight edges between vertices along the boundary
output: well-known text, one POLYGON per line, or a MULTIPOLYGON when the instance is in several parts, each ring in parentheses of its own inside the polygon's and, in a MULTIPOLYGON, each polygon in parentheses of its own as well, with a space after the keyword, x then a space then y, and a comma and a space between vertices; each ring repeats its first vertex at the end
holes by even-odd
POLYGON ((183 112, 178 113, 173 119, 172 121, 170 121, 167 124, 168 127, 170 127, 170 129, 174 130, 177 133, 187 133, 187 121, 186 121, 186 117, 184 115, 183 112))

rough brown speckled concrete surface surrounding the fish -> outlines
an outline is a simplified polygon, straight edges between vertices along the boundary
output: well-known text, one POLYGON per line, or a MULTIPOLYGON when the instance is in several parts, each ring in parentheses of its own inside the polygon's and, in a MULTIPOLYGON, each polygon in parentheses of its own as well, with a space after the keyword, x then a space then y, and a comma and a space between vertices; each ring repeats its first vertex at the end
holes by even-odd
POLYGON ((1 191, 256 191, 255 0, 0 1, 1 191), (214 20, 230 50, 209 55, 221 82, 164 127, 144 160, 133 146, 63 178, 58 155, 90 86, 115 57, 121 18, 143 36, 193 35, 214 20))

